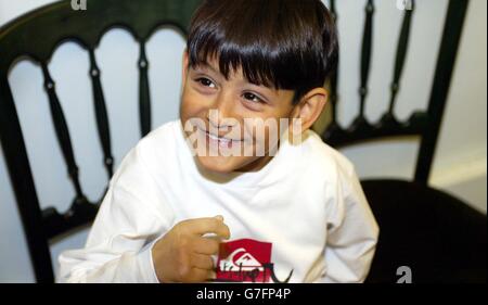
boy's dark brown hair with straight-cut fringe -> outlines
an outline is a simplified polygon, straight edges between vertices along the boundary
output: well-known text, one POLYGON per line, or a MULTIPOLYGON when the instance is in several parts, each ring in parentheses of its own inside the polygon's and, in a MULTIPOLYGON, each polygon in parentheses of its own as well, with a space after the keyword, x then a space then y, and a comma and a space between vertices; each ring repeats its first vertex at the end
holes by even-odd
POLYGON ((334 22, 320 0, 205 0, 193 15, 189 64, 218 59, 226 78, 242 67, 253 84, 295 90, 294 104, 335 68, 334 22))

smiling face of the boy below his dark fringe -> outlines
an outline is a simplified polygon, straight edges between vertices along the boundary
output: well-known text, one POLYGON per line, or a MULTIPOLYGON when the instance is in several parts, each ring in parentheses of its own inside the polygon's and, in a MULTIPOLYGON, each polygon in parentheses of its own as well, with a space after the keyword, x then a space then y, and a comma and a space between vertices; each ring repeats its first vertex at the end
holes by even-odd
POLYGON ((265 166, 280 135, 292 126, 294 91, 251 84, 241 68, 226 79, 216 60, 188 67, 187 52, 182 76, 180 118, 200 165, 218 173, 265 166), (280 126, 280 118, 290 124, 280 126))

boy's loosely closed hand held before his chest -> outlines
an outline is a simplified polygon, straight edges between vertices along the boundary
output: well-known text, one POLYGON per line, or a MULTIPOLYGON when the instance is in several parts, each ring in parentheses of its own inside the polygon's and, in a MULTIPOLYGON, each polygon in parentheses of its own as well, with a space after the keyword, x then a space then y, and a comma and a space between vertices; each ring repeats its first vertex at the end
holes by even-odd
POLYGON ((229 239, 229 227, 222 216, 189 219, 178 223, 153 246, 154 268, 159 282, 203 282, 214 277, 213 254, 219 240, 203 237, 215 233, 229 239))

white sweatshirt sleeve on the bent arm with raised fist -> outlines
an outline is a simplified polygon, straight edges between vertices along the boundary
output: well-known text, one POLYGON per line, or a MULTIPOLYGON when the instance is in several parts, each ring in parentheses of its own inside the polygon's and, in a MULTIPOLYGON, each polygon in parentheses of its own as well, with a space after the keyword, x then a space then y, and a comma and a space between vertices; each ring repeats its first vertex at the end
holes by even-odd
POLYGON ((140 143, 111 180, 86 246, 60 255, 57 281, 157 282, 151 250, 168 230, 172 213, 162 202, 140 143))

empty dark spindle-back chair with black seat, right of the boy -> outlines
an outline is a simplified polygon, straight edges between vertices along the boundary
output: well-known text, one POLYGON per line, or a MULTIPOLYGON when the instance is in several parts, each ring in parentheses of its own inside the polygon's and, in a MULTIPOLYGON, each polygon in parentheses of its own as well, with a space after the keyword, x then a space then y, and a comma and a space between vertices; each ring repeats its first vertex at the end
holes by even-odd
MULTIPOLYGON (((375 8, 374 1, 369 0, 361 50, 360 112, 350 126, 338 124, 335 74, 331 78, 332 123, 322 139, 341 148, 396 136, 421 138, 413 180, 361 181, 381 228, 367 282, 401 282, 407 279, 404 276, 413 282, 486 282, 486 215, 427 185, 468 1, 449 1, 428 109, 399 122, 394 109, 415 12, 414 2, 408 2, 412 7, 404 11, 388 110, 374 124, 364 116, 375 8)), ((341 22, 334 0, 331 0, 331 11, 336 22, 341 22)))

